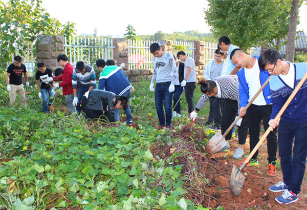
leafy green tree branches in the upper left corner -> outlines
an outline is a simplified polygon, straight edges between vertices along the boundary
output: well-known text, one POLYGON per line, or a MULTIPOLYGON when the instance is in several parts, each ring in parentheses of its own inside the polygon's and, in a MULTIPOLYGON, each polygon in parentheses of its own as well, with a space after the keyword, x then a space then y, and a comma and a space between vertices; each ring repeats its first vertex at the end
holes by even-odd
MULTIPOLYGON (((0 1, 0 63, 5 67, 15 53, 14 43, 20 48, 17 54, 24 56, 24 50, 38 35, 65 35, 74 33, 73 23, 62 25, 41 8, 41 0, 0 1)), ((34 46, 35 47, 35 46, 34 46)))

